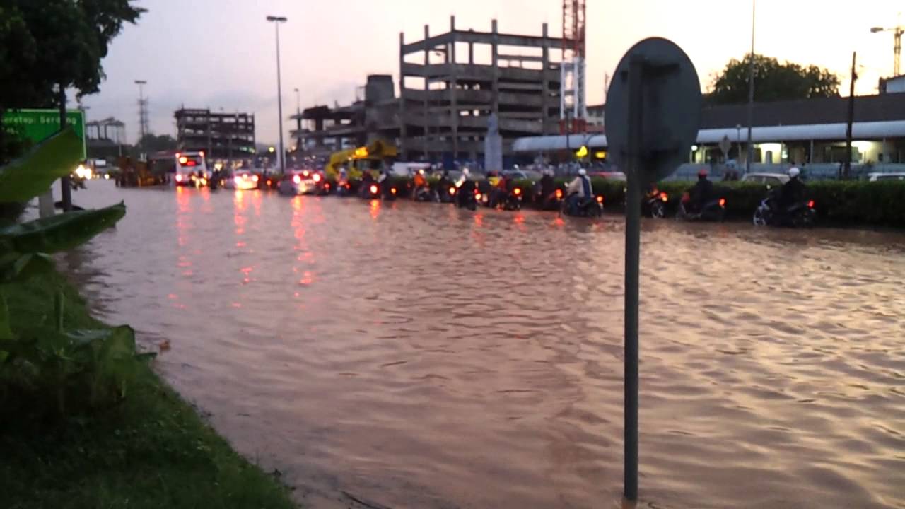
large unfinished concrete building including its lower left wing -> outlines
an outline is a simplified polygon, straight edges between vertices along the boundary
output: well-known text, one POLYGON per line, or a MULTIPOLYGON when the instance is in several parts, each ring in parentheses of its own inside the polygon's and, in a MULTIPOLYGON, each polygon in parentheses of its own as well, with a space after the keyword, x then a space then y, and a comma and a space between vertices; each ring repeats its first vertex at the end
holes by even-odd
POLYGON ((369 76, 364 97, 348 106, 317 106, 292 117, 307 152, 383 138, 403 160, 481 160, 495 115, 504 156, 512 140, 560 130, 564 42, 548 35, 450 29, 411 43, 399 35, 399 95, 388 75, 369 76))

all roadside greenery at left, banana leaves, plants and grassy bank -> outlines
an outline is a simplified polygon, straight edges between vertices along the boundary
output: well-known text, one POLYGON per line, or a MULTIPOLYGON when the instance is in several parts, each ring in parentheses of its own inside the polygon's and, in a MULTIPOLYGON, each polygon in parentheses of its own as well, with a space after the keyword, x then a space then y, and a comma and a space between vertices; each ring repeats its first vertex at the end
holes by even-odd
MULTIPOLYGON (((24 203, 80 157, 64 130, 0 167, 24 203)), ((0 500, 6 508, 288 508, 151 370, 135 331, 90 317, 52 254, 114 226, 124 204, 0 225, 0 500)))

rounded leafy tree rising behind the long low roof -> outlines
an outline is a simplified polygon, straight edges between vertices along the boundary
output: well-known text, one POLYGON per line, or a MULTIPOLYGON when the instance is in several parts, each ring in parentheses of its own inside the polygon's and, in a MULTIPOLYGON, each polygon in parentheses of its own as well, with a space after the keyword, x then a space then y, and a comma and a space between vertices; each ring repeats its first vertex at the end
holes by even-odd
MULTIPOLYGON (((707 101, 710 104, 748 102, 748 65, 751 54, 738 61, 732 59, 716 75, 707 101)), ((815 97, 838 97, 839 77, 816 65, 807 67, 793 62, 780 63, 775 58, 754 55, 754 100, 784 101, 815 97)))

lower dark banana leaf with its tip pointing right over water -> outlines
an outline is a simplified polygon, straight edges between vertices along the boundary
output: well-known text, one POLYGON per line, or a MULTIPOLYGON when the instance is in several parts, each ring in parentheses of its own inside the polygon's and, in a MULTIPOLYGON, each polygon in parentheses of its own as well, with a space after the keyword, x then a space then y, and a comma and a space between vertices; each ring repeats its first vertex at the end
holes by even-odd
POLYGON ((126 205, 79 210, 0 229, 0 246, 16 253, 57 253, 88 242, 126 215, 126 205))

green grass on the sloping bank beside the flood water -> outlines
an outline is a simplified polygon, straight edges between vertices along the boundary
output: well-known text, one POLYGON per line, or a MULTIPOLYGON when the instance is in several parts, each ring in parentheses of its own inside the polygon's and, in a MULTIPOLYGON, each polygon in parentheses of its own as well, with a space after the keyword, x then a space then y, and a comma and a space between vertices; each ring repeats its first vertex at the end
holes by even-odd
MULTIPOLYGON (((96 327, 59 274, 4 288, 13 328, 52 313, 96 327)), ((2 380, 0 380, 2 383, 2 380)), ((2 410, 0 410, 2 411, 2 410)), ((19 508, 291 508, 289 490, 249 464, 147 367, 117 408, 63 423, 0 428, 0 506, 19 508)))

